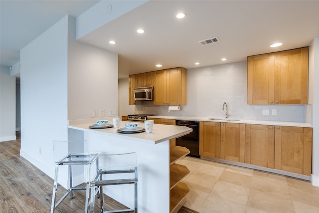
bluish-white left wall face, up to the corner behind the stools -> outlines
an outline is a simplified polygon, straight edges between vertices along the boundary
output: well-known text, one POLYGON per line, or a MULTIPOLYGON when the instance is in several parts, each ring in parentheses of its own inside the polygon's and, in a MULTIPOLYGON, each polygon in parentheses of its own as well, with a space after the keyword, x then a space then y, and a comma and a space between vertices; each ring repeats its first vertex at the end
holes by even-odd
POLYGON ((53 140, 67 140, 68 17, 20 51, 20 155, 53 177, 53 140))

